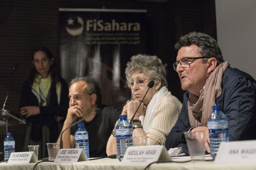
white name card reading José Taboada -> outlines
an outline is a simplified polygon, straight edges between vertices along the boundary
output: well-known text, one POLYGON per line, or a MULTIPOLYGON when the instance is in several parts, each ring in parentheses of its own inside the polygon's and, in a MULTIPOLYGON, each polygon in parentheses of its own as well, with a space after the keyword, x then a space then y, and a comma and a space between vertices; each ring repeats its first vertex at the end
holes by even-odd
POLYGON ((73 163, 87 160, 88 158, 85 155, 83 149, 60 149, 54 162, 73 163))

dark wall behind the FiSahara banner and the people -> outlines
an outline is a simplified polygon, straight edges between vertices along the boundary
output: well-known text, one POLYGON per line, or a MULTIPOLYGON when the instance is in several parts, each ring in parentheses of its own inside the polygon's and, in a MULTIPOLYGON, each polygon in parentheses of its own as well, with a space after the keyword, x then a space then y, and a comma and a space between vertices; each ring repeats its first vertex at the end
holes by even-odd
MULTIPOLYGON (((172 64, 177 51, 174 44, 181 35, 200 31, 216 38, 214 0, 42 0, 0 1, 0 106, 5 100, 13 65, 20 63, 11 81, 6 109, 18 113, 22 83, 32 68, 30 51, 45 45, 59 60, 59 8, 146 9, 147 54, 157 55, 168 64, 168 84, 173 95, 183 101, 184 91, 172 64)), ((25 126, 13 126, 16 151, 21 151, 25 126), (20 128, 19 128, 20 127, 20 128)), ((5 127, 1 126, 0 151, 5 127)))

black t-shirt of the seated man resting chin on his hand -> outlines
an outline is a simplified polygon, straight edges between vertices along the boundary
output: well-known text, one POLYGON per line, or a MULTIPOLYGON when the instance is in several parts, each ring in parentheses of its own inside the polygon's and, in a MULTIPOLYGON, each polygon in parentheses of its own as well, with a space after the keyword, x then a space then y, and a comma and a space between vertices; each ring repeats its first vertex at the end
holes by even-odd
MULTIPOLYGON (((84 124, 84 129, 88 132, 90 158, 107 156, 107 141, 121 114, 121 112, 113 106, 100 105, 98 108, 101 108, 101 112, 96 114, 92 121, 81 122, 84 124)), ((79 117, 75 119, 73 123, 81 119, 82 118, 79 117)), ((77 126, 71 127, 70 135, 74 135, 76 130, 77 126)))

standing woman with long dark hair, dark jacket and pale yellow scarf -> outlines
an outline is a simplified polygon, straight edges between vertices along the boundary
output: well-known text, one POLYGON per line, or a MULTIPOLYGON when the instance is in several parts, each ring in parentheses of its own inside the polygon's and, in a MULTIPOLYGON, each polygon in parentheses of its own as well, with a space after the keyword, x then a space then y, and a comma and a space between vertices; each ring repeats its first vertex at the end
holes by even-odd
POLYGON ((22 86, 20 98, 20 114, 28 119, 23 150, 28 150, 27 145, 39 144, 40 159, 48 155, 46 143, 55 142, 62 129, 68 109, 68 87, 48 48, 35 48, 31 59, 34 67, 22 86))

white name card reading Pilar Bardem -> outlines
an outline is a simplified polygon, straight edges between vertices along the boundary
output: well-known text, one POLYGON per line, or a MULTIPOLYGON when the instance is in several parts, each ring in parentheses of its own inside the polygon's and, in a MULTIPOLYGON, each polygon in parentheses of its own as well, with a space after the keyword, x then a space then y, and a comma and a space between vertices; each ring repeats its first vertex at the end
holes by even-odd
POLYGON ((7 163, 21 164, 36 162, 38 162, 38 159, 34 152, 12 152, 7 163))

